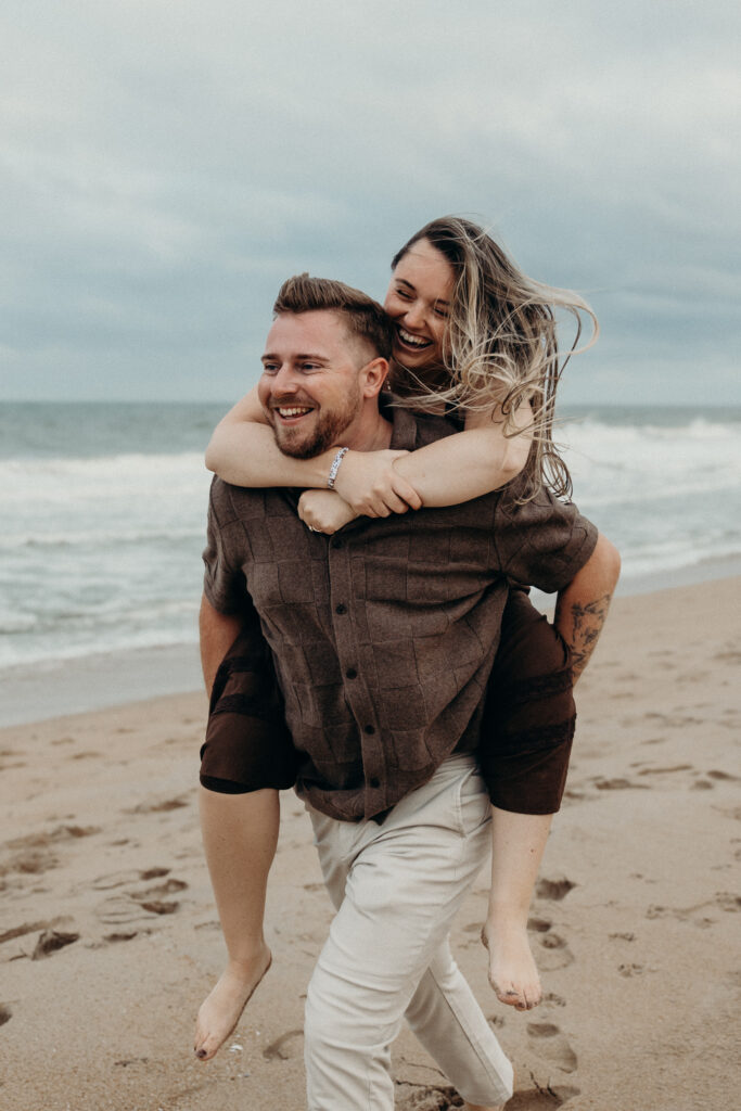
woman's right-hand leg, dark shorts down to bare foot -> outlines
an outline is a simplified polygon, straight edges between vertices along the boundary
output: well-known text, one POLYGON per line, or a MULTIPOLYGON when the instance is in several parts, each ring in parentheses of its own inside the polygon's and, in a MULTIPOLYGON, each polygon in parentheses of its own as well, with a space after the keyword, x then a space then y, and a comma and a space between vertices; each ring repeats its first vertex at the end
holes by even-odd
POLYGON ((575 711, 568 650, 520 590, 510 594, 487 692, 481 768, 492 801, 491 893, 482 941, 498 998, 518 1010, 541 999, 528 911, 559 809, 575 711))

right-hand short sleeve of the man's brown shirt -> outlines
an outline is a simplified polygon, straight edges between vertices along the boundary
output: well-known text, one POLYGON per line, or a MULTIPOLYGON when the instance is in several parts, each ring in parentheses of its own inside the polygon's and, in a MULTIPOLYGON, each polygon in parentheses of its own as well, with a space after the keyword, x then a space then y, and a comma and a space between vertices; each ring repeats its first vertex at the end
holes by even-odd
POLYGON ((524 504, 502 491, 494 542, 501 570, 515 582, 545 593, 563 590, 589 560, 597 537, 573 502, 560 501, 544 488, 524 504))

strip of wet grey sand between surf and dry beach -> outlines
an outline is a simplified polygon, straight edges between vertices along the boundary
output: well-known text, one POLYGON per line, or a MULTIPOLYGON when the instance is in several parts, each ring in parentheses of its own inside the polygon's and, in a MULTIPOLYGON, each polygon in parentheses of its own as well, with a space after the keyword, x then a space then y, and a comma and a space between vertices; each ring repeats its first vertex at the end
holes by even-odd
MULTIPOLYGON (((739 575, 739 558, 705 561, 660 573, 628 573, 618 583, 615 598, 654 594, 710 582, 730 583, 739 575)), ((539 609, 552 611, 553 595, 533 590, 532 600, 539 609)), ((0 728, 202 690, 196 641, 14 664, 3 669, 0 677, 3 680, 0 683, 0 728)))

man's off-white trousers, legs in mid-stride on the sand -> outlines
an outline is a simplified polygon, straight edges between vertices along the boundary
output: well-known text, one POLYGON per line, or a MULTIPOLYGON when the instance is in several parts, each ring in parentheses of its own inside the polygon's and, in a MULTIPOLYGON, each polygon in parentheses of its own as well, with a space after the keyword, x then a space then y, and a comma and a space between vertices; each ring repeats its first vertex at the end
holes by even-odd
POLYGON ((338 908, 307 997, 309 1111, 391 1111, 404 1015, 467 1102, 504 1103, 512 1067, 448 945, 489 848, 474 759, 445 760, 381 825, 308 809, 338 908))

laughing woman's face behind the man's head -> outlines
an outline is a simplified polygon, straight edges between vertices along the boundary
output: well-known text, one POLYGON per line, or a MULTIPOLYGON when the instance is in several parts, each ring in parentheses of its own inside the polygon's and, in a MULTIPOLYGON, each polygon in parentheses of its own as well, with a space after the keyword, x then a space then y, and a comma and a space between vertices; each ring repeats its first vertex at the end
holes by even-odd
POLYGON ((402 367, 417 371, 442 362, 454 278, 429 239, 410 247, 393 271, 383 308, 395 326, 393 357, 402 367))

